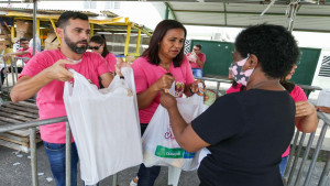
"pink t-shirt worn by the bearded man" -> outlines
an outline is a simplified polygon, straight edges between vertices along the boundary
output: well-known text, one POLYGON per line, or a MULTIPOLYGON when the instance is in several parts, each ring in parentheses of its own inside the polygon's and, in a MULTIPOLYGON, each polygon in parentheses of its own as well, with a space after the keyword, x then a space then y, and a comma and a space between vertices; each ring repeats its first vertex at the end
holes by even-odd
MULTIPOLYGON (((62 58, 65 59, 66 57, 59 50, 41 52, 30 59, 20 77, 33 77, 62 58)), ((103 57, 97 53, 89 52, 82 55, 80 63, 66 65, 66 67, 80 73, 98 87, 98 77, 108 73, 103 57)), ((63 90, 64 81, 53 80, 37 92, 36 106, 41 120, 67 116, 63 101, 63 90)), ((65 122, 41 125, 40 132, 42 139, 48 143, 65 143, 65 122)))

